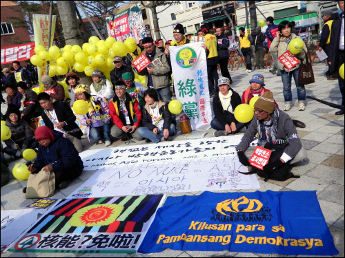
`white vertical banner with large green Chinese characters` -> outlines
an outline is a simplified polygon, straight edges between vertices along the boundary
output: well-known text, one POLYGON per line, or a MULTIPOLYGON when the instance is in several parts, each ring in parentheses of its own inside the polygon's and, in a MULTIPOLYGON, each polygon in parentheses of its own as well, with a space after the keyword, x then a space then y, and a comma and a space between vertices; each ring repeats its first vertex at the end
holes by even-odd
POLYGON ((201 43, 169 47, 169 50, 175 94, 190 118, 192 129, 209 125, 212 110, 205 50, 201 43))

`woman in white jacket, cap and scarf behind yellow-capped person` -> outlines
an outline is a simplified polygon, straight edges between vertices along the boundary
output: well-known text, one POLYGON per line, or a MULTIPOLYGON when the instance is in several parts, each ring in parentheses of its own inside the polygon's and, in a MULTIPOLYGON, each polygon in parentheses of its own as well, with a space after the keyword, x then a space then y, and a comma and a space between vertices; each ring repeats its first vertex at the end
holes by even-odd
POLYGON ((94 70, 91 76, 93 83, 90 85, 90 94, 102 98, 103 102, 109 107, 109 101, 115 96, 110 81, 104 77, 101 70, 94 70))

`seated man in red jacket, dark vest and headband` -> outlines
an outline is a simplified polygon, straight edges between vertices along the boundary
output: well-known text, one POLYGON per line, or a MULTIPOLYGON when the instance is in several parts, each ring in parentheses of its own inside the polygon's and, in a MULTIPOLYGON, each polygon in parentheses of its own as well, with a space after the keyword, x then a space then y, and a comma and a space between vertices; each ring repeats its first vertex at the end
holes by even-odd
POLYGON ((114 85, 115 97, 109 103, 109 111, 112 122, 115 126, 111 129, 111 136, 128 140, 133 137, 137 140, 143 140, 139 136, 137 128, 141 124, 141 110, 138 101, 128 94, 126 83, 119 80, 114 85))

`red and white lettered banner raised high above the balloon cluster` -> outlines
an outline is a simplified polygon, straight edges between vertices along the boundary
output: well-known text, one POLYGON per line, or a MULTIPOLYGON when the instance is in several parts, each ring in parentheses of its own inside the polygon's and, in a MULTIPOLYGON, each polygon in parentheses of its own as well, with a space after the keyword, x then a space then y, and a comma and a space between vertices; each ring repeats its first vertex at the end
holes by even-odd
POLYGON ((117 41, 133 38, 137 43, 146 37, 141 5, 135 6, 116 14, 115 17, 106 17, 108 34, 117 41))

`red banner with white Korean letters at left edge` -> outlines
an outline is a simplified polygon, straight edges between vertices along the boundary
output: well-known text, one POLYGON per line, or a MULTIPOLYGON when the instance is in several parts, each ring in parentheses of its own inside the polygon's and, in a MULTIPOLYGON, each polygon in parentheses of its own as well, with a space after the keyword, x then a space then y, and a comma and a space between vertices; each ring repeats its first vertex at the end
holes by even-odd
POLYGON ((24 61, 34 55, 34 43, 1 47, 1 65, 13 61, 24 61))

